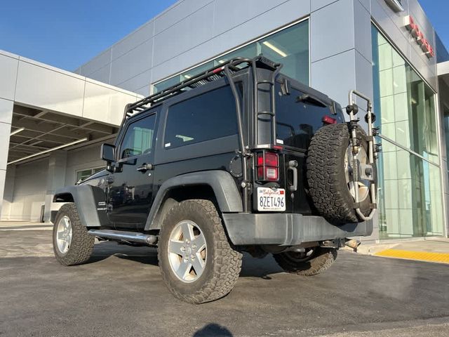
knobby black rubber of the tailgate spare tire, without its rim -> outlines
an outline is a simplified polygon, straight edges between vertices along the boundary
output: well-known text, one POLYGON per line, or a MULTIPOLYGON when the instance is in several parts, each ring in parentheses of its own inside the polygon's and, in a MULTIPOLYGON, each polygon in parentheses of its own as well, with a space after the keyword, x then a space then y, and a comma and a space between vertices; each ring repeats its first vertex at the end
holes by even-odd
MULTIPOLYGON (((356 132, 361 138, 365 135, 360 126, 356 132)), ((359 221, 354 199, 341 181, 342 148, 348 145, 347 124, 330 124, 315 133, 307 153, 307 184, 313 204, 321 216, 336 224, 359 221)))

